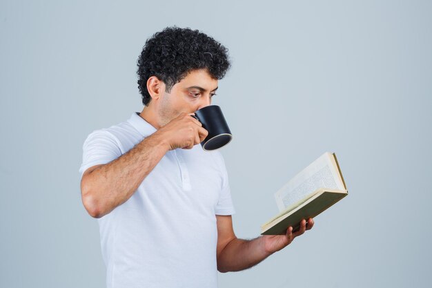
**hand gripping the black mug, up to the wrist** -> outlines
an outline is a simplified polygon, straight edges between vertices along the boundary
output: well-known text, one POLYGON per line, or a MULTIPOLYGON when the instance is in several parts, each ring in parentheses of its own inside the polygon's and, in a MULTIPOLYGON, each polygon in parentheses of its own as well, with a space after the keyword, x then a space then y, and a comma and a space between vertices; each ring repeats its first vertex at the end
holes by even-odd
POLYGON ((196 144, 206 139, 208 131, 201 122, 192 117, 195 113, 181 113, 168 124, 159 128, 155 134, 164 139, 169 150, 176 148, 192 149, 196 144))

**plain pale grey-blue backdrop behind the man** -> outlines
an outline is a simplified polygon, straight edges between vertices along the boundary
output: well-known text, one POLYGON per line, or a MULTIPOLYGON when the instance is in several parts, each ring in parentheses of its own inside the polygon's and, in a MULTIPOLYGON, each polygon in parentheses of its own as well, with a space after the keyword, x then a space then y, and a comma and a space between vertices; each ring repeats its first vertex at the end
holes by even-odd
MULTIPOLYGON (((167 26, 206 32, 232 68, 213 104, 235 233, 325 151, 348 197, 219 287, 430 287, 431 1, 0 1, 0 287, 104 287, 81 204, 82 144, 141 111, 136 62, 167 26)), ((175 223, 173 223, 175 225, 175 223)))

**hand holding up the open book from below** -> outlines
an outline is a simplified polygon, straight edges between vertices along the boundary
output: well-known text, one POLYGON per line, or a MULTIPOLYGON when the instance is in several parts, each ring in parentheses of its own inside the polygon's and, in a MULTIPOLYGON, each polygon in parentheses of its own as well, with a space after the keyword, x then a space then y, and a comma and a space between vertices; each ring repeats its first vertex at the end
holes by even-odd
POLYGON ((268 253, 275 253, 276 251, 288 246, 288 244, 293 242, 294 238, 302 235, 304 231, 312 229, 312 227, 313 219, 309 218, 307 223, 306 220, 302 220, 302 222, 300 222, 300 228, 294 233, 293 227, 290 226, 286 229, 285 235, 264 235, 262 236, 264 240, 264 249, 268 253))

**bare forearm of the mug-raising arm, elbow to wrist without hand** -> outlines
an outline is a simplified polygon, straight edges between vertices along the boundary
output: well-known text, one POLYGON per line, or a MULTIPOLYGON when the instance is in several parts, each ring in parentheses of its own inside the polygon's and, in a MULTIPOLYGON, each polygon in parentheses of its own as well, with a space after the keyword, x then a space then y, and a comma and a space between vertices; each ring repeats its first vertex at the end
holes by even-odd
POLYGON ((81 193, 90 215, 100 218, 126 202, 167 151, 168 145, 154 133, 116 160, 85 175, 81 193))

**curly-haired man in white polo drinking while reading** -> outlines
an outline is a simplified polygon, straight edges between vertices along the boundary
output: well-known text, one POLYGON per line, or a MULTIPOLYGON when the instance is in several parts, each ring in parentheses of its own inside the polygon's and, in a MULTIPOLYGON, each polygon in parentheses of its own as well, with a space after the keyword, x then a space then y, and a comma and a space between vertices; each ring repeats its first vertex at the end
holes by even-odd
POLYGON ((157 32, 138 61, 144 109, 84 142, 81 194, 99 221, 108 287, 217 287, 217 270, 252 267, 313 227, 235 236, 224 159, 197 145, 208 133, 191 117, 229 66, 226 48, 197 30, 157 32))

